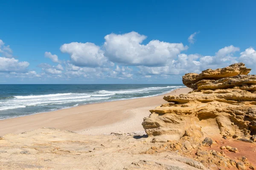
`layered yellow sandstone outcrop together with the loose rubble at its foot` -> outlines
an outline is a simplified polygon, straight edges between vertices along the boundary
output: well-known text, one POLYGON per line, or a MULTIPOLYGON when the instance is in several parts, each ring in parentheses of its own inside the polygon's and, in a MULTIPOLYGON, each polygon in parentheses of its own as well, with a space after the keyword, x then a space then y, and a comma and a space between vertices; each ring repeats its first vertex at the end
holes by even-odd
MULTIPOLYGON (((152 142, 165 142, 146 153, 165 150, 190 156, 196 153, 195 159, 207 166, 253 169, 248 162, 231 160, 223 152, 202 148, 218 145, 212 139, 239 140, 256 146, 256 75, 247 75, 250 70, 237 63, 207 69, 201 74, 185 74, 183 83, 193 91, 164 96, 169 103, 151 110, 151 115, 144 118, 142 125, 148 136, 154 136, 152 142)), ((227 150, 238 152, 235 147, 227 150)))

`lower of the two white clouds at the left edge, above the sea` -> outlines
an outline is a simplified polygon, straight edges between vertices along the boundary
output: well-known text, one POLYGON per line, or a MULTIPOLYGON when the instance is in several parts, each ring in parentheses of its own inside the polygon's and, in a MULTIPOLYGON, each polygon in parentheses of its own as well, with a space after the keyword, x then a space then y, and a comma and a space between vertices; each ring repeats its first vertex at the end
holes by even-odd
POLYGON ((25 72, 29 62, 19 62, 18 59, 0 57, 0 72, 25 72))

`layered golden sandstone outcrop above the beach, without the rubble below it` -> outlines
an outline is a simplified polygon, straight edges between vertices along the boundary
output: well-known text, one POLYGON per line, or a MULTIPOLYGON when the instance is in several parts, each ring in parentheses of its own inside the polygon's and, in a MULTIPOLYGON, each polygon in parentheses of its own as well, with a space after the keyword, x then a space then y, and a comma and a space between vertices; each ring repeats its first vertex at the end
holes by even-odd
POLYGON ((184 84, 195 90, 179 96, 164 96, 170 104, 151 110, 152 114, 142 123, 145 132, 148 136, 165 136, 167 140, 190 136, 199 141, 210 134, 253 141, 256 75, 245 75, 249 72, 250 68, 237 63, 198 75, 186 74, 184 84))

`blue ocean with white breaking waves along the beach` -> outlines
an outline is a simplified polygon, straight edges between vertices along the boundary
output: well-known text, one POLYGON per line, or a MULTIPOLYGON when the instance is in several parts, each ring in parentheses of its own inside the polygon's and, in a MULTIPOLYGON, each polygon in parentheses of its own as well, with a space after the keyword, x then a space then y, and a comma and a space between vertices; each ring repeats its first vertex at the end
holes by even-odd
POLYGON ((168 93, 182 84, 0 85, 0 119, 168 93))

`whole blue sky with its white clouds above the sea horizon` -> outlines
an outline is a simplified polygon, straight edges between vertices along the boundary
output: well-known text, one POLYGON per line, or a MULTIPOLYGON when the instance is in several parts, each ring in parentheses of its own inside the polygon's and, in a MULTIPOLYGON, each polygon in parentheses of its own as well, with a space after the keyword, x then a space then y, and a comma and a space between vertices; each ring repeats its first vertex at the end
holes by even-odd
POLYGON ((254 68, 255 6, 1 1, 0 83, 181 83, 185 73, 234 62, 254 68))

